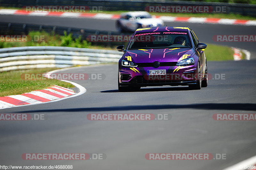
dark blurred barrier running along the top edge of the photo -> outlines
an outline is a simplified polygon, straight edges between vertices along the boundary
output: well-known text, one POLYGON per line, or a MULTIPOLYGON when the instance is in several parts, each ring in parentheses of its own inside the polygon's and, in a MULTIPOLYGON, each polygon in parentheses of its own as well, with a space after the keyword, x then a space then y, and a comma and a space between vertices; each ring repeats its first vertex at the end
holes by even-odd
POLYGON ((1 6, 23 7, 39 5, 76 5, 102 7, 102 11, 145 11, 146 6, 227 6, 228 13, 256 16, 256 5, 220 2, 171 1, 171 0, 1 0, 1 6))

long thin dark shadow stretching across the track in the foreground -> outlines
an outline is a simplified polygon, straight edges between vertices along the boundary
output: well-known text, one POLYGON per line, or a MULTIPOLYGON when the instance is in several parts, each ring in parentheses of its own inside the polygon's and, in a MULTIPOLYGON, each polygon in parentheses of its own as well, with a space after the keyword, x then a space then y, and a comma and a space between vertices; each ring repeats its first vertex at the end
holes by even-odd
POLYGON ((157 109, 205 109, 205 110, 246 110, 256 111, 256 104, 252 103, 204 103, 204 104, 163 104, 163 105, 134 105, 109 106, 70 109, 44 109, 23 112, 97 112, 97 111, 129 111, 129 110, 157 110, 157 109))

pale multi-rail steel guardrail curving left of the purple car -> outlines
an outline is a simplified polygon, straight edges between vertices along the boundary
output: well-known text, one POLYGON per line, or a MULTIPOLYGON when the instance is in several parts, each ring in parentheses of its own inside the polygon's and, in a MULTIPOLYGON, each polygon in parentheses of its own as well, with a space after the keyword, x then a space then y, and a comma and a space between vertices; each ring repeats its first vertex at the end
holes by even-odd
POLYGON ((121 57, 122 53, 114 50, 54 46, 3 48, 0 49, 0 72, 113 63, 121 57))

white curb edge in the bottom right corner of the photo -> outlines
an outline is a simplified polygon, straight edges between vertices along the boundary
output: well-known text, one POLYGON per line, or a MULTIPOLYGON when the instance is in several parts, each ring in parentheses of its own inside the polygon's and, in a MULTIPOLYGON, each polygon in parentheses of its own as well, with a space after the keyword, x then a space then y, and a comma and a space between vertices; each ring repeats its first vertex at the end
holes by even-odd
POLYGON ((223 170, 252 170, 256 169, 256 156, 245 159, 233 166, 229 166, 223 170))

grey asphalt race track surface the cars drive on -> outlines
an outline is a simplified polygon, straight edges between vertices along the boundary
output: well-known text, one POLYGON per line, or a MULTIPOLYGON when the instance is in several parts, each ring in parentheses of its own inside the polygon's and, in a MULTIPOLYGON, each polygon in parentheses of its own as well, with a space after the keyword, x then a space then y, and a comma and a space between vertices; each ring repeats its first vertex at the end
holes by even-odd
MULTIPOLYGON (((40 18, 41 20, 38 17, 1 16, 2 21, 8 22, 115 29, 114 20, 40 18)), ((213 43, 212 35, 255 33, 255 27, 250 26, 170 24, 188 25, 205 43, 213 43), (242 33, 243 31, 246 32, 242 33)), ((234 44, 226 45, 250 50, 251 57, 255 58, 255 45, 234 44)), ((223 74, 225 78, 209 80, 208 87, 201 90, 189 90, 186 86, 164 86, 123 93, 117 90, 117 65, 77 67, 60 71, 59 73, 102 73, 106 78, 74 81, 87 89, 86 93, 78 97, 0 110, 0 113, 45 114, 47 118, 1 121, 1 163, 19 166, 73 165, 75 170, 221 170, 234 165, 255 156, 256 124, 252 120, 213 120, 212 116, 215 113, 255 113, 255 64, 256 60, 208 61, 208 73, 213 77, 223 74), (92 121, 86 118, 89 113, 161 113, 170 114, 172 119, 92 121), (23 160, 23 153, 105 153, 107 158, 23 160), (146 153, 224 153, 227 154, 227 159, 146 160, 146 153)))

